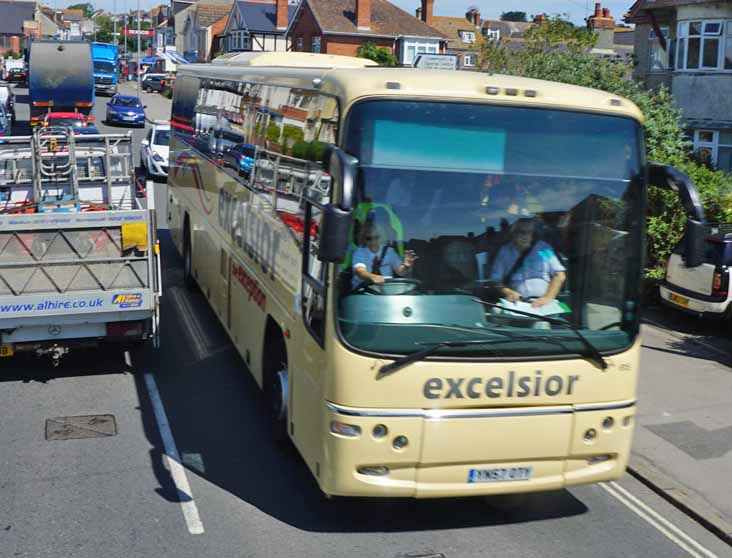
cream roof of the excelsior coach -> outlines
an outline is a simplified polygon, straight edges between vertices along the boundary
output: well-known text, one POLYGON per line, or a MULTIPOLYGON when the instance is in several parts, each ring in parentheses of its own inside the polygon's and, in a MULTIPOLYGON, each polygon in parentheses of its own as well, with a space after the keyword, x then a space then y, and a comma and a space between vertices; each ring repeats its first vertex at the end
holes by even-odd
POLYGON ((365 97, 465 100, 614 114, 643 121, 631 101, 598 89, 553 81, 449 70, 383 68, 370 60, 302 52, 226 55, 188 64, 179 74, 319 89, 347 107, 365 97))

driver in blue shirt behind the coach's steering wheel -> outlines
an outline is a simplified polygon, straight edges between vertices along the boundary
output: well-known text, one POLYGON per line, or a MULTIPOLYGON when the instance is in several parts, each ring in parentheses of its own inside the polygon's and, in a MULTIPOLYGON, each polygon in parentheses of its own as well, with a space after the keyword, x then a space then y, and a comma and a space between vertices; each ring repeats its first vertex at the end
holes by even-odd
POLYGON ((402 261, 394 248, 382 244, 383 238, 381 226, 373 221, 361 226, 360 246, 353 251, 353 288, 363 283, 383 285, 387 277, 409 275, 417 256, 407 250, 402 261))

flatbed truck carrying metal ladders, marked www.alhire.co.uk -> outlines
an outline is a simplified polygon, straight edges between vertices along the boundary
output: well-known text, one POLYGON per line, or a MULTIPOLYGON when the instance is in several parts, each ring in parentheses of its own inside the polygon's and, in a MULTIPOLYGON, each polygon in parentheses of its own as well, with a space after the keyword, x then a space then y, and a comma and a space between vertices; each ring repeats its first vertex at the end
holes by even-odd
POLYGON ((157 345, 156 213, 135 189, 129 133, 3 139, 0 357, 157 345))

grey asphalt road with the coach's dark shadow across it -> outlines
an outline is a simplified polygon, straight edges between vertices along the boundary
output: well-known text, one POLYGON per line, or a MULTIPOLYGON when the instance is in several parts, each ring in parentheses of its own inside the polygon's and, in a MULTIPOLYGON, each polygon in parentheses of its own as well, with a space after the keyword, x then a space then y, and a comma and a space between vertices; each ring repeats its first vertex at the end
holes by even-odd
MULTIPOLYGON (((143 99, 151 118, 165 117, 168 101, 143 99)), ((629 477, 518 507, 324 499, 302 461, 271 441, 246 366, 204 298, 183 287, 180 259, 161 237, 160 350, 134 360, 79 353, 57 369, 0 363, 0 558, 732 556, 629 477), (63 417, 89 415, 106 415, 87 424, 95 437, 46 439, 78 431, 59 428, 63 417)))

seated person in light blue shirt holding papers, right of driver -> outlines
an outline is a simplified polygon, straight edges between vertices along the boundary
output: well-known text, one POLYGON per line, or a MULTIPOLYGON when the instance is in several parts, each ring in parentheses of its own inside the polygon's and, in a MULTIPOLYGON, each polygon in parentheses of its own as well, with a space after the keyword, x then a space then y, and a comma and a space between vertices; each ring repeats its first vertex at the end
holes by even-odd
POLYGON ((539 308, 552 303, 567 277, 552 247, 535 238, 535 221, 523 218, 511 227, 511 240, 496 255, 491 279, 509 302, 530 300, 539 308))

